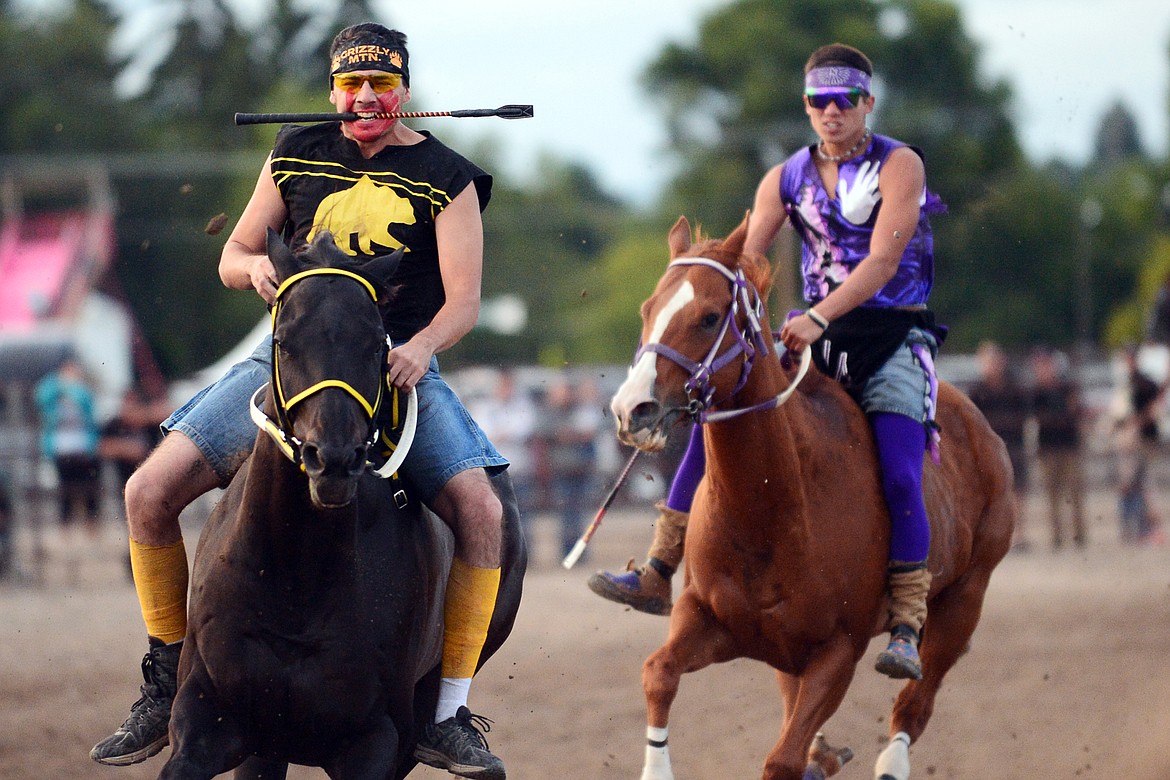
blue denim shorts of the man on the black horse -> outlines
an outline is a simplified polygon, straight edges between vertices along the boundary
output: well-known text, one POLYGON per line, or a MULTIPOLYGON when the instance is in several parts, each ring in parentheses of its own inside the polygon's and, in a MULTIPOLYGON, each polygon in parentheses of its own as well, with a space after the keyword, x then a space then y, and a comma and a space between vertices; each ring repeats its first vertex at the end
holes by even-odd
MULTIPOLYGON (((164 430, 177 430, 194 442, 225 483, 255 444, 259 432, 248 402, 271 375, 271 337, 266 338, 250 357, 163 422, 164 430)), ((418 428, 399 474, 418 491, 419 499, 429 503, 460 471, 482 468, 496 474, 508 467, 508 460, 496 451, 455 391, 439 375, 436 358, 431 359, 417 388, 418 428)))

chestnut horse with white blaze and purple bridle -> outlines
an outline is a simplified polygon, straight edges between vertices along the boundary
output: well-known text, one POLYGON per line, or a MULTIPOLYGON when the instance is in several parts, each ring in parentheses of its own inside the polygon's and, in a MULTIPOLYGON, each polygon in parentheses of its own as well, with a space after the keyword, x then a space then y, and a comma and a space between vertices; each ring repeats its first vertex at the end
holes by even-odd
MULTIPOLYGON (((738 657, 773 667, 784 699, 763 776, 835 774, 852 752, 819 731, 886 629, 889 513, 869 424, 837 381, 785 370, 765 330, 768 262, 743 254, 746 228, 745 218, 727 240, 691 246, 686 219, 674 226, 672 262, 642 304, 639 356, 612 402, 619 439, 642 450, 660 450, 681 419, 708 423, 686 581, 668 639, 642 668, 642 780, 673 778, 667 718, 681 676, 738 657)), ((927 463, 923 486, 934 574, 923 677, 897 696, 876 764, 893 780, 909 776, 909 744, 968 648, 1016 517, 1006 449, 978 409, 942 382, 936 419, 942 457, 927 463)))

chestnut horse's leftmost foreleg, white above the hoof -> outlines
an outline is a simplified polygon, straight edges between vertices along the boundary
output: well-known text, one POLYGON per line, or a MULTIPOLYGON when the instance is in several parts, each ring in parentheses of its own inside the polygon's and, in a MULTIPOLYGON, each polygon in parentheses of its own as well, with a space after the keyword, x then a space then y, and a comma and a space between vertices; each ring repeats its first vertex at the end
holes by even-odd
POLYGON ((646 693, 646 760, 641 780, 674 780, 667 747, 667 719, 679 692, 679 681, 690 671, 735 657, 728 631, 706 605, 684 589, 670 610, 666 644, 642 664, 646 693))

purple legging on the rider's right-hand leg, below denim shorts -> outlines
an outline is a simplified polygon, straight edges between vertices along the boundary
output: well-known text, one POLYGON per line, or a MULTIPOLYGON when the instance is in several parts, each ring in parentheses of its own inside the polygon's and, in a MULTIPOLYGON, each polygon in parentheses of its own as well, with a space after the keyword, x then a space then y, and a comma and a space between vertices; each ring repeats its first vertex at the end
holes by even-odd
POLYGON ((922 461, 927 429, 913 417, 880 412, 869 415, 881 463, 881 486, 889 506, 889 559, 918 562, 930 552, 930 523, 922 501, 922 461))

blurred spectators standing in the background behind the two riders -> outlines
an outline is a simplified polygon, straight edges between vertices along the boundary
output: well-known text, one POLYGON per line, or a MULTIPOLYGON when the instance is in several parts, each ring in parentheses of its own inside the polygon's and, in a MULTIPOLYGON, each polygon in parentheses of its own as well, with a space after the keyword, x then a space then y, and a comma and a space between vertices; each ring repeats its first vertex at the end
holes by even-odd
MULTIPOLYGON (((1170 337, 1170 298, 1166 309, 1170 337)), ((1086 402, 1075 361, 1061 351, 1035 346, 1010 353, 984 341, 976 360, 978 378, 959 385, 1004 440, 1017 498, 1033 508, 1020 515, 1017 551, 1089 543, 1086 492, 1102 454, 1106 479, 1116 492, 1119 538, 1128 545, 1163 543, 1159 465, 1170 463, 1164 461, 1170 441, 1170 348, 1164 341, 1129 345, 1114 356, 1104 403, 1086 402)), ((522 516, 553 518, 560 555, 580 537, 628 455, 613 435, 612 389, 590 372, 503 368, 481 372, 476 388, 467 391, 472 416, 511 461, 522 516)), ((121 490, 158 442, 168 402, 130 388, 117 414, 99 421, 92 386, 71 359, 42 378, 32 395, 40 433, 35 482, 43 505, 51 508, 47 511, 69 534, 96 533, 103 511, 112 509, 121 519, 121 490)), ((631 481, 622 501, 651 506, 680 454, 668 451, 661 462, 647 458, 647 474, 659 478, 631 481)), ((12 566, 13 483, 0 468, 0 577, 12 566)), ((525 530, 531 532, 531 523, 525 530)))

